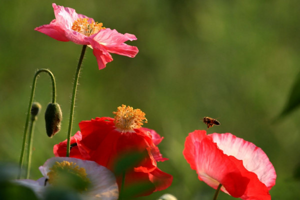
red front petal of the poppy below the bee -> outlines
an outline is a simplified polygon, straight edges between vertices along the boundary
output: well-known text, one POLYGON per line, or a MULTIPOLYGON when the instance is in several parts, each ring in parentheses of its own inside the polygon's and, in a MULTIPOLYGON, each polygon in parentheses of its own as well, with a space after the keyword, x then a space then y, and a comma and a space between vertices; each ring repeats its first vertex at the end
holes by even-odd
POLYGON ((186 137, 183 155, 200 180, 242 199, 270 199, 267 187, 248 171, 242 160, 226 155, 205 131, 195 130, 186 137), (195 167, 195 168, 194 168, 195 167))

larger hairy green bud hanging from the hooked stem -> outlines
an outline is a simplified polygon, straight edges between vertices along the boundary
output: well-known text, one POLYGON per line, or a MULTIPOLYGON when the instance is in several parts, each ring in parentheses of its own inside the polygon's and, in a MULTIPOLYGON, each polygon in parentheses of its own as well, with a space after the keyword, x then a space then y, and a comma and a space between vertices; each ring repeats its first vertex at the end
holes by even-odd
POLYGON ((49 103, 45 111, 46 132, 49 137, 60 130, 61 119, 60 106, 57 103, 49 103))

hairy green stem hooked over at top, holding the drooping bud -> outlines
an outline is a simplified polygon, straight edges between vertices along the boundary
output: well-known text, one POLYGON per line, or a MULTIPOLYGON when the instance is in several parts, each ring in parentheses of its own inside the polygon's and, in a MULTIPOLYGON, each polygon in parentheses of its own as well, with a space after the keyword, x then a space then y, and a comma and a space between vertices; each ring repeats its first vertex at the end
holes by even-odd
POLYGON ((27 109, 26 122, 25 122, 25 127, 24 127, 24 132, 23 132, 23 142, 22 142, 22 149, 21 149, 21 155, 20 155, 20 160, 19 160, 19 173, 18 173, 17 179, 20 178, 21 172, 22 172, 23 157, 24 157, 24 150, 25 150, 26 139, 27 139, 27 128, 28 128, 28 122, 29 122, 30 109, 31 109, 32 101, 33 101, 33 97, 34 97, 36 78, 37 78, 37 75, 40 72, 47 72, 50 75, 51 80, 52 80, 52 102, 53 103, 55 102, 56 87, 55 87, 54 76, 53 76, 52 72, 48 69, 39 69, 34 74, 32 86, 31 86, 31 94, 30 94, 30 100, 29 100, 29 105, 28 105, 28 109, 27 109))

